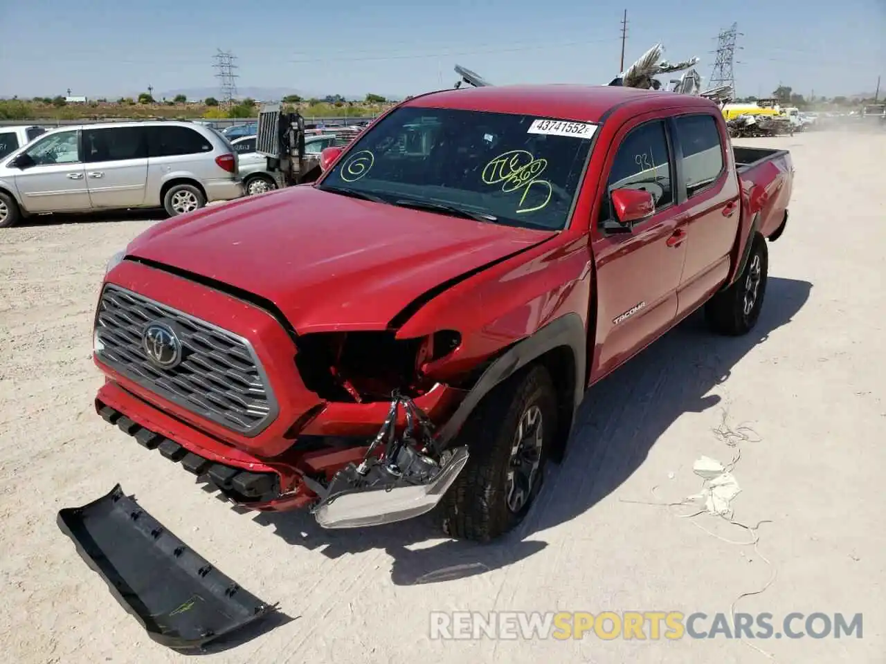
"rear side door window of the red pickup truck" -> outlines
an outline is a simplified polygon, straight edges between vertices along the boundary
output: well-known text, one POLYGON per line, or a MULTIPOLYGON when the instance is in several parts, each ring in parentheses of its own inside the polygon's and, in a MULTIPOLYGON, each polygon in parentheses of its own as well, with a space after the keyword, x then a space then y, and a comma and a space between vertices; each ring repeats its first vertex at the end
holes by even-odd
POLYGON ((686 195, 693 197, 718 181, 726 166, 719 127, 712 115, 683 115, 674 125, 683 152, 686 195))

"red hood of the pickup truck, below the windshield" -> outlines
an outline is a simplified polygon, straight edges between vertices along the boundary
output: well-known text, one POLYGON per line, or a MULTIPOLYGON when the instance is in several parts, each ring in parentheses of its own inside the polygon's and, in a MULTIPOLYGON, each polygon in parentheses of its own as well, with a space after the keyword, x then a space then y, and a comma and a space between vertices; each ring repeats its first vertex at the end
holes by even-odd
POLYGON ((301 185, 161 222, 127 253, 263 297, 305 334, 384 329, 426 291, 553 235, 301 185))

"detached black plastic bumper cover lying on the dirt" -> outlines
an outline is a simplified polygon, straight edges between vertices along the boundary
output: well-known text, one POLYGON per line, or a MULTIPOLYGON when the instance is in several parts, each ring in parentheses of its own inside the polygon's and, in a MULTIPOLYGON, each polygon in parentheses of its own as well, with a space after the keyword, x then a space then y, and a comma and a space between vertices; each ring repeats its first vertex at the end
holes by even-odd
POLYGON ((58 527, 154 641, 200 648, 274 609, 221 574, 125 496, 58 512, 58 527))

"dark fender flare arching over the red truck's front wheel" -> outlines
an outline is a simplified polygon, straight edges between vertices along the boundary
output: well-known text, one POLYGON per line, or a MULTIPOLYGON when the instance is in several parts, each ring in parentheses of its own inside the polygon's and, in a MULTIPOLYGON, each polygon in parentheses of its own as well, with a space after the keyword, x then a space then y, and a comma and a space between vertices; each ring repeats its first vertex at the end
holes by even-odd
MULTIPOLYGON (((443 446, 449 444, 462 429, 464 422, 468 420, 480 401, 497 385, 508 380, 533 360, 562 346, 572 351, 572 359, 575 362, 575 385, 570 404, 570 424, 574 422, 575 412, 585 395, 587 329, 578 313, 566 313, 540 328, 532 336, 527 336, 509 346, 486 367, 478 381, 462 399, 462 403, 455 409, 455 413, 439 429, 439 443, 443 446)), ((556 382, 556 376, 554 380, 556 382)))

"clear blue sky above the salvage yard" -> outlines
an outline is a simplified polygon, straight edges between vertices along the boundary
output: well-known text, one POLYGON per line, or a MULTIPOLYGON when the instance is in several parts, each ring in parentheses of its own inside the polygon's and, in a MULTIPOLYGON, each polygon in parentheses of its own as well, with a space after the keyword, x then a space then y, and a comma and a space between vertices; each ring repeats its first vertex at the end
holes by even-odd
POLYGON ((625 10, 626 66, 661 42, 665 58, 701 58, 705 80, 719 30, 737 22, 741 97, 780 84, 807 97, 873 93, 886 77, 886 0, 0 0, 0 96, 213 89, 219 49, 237 57, 239 89, 307 96, 448 88, 455 64, 496 84, 605 84, 625 10))

